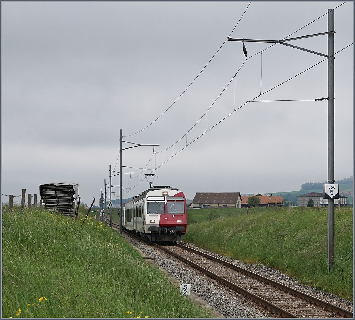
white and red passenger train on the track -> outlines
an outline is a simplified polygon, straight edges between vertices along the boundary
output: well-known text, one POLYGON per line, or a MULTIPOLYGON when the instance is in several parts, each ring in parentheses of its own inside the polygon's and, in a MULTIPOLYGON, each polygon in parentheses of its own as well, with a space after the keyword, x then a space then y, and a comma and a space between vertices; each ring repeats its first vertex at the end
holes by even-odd
POLYGON ((170 186, 153 186, 125 204, 122 225, 152 242, 180 241, 186 233, 185 195, 170 186))

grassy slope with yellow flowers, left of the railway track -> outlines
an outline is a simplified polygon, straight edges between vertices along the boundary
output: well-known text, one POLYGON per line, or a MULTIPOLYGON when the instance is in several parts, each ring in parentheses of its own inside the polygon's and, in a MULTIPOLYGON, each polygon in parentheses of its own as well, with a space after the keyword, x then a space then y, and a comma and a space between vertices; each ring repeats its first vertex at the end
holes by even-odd
POLYGON ((209 316, 117 232, 82 221, 2 207, 3 318, 209 316))

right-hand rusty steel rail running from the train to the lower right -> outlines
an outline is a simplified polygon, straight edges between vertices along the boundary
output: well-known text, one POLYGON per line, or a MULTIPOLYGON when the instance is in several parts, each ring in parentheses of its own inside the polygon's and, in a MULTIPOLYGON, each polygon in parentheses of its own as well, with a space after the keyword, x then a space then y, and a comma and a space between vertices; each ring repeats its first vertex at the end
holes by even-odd
POLYGON ((196 253, 198 255, 204 256, 205 258, 208 258, 210 260, 213 260, 215 262, 218 262, 220 264, 228 266, 228 267, 230 267, 230 268, 232 268, 234 270, 237 270, 237 271, 241 272, 242 274, 245 274, 245 275, 250 276, 252 278, 255 278, 255 279, 259 280, 259 281, 267 283, 268 285, 271 285, 271 286, 273 286, 275 288, 281 289, 284 292, 292 294, 293 296, 296 296, 298 298, 301 298, 301 299, 304 299, 304 300, 306 300, 308 302, 316 304, 317 306, 322 307, 323 309, 326 309, 328 311, 334 312, 336 314, 339 314, 339 315, 343 316, 344 318, 353 318, 353 312, 351 312, 349 310, 346 310, 346 309, 343 309, 341 307, 338 307, 335 304, 332 304, 332 303, 326 302, 324 300, 318 299, 316 297, 310 296, 307 293, 301 292, 301 291, 299 291, 297 289, 293 289, 293 288, 291 288, 289 286, 283 285, 282 283, 279 283, 277 281, 271 280, 271 279, 269 279, 267 277, 264 277, 262 275, 258 275, 255 272, 249 271, 249 270, 244 269, 244 268, 242 268, 240 266, 237 266, 235 264, 229 263, 228 261, 219 259, 219 258, 217 258, 217 257, 215 257, 213 255, 201 252, 199 250, 187 247, 186 245, 182 245, 182 244, 179 244, 179 243, 176 243, 176 245, 178 247, 180 247, 180 248, 184 248, 185 250, 188 250, 190 252, 196 253))

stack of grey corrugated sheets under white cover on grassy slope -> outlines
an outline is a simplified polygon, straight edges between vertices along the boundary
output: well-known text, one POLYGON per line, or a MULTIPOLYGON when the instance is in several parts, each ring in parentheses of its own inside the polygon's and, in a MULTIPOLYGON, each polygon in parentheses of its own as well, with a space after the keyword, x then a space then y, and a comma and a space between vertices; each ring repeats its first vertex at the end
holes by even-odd
POLYGON ((75 202, 78 198, 78 184, 70 182, 41 184, 39 194, 46 210, 55 210, 75 217, 75 202))

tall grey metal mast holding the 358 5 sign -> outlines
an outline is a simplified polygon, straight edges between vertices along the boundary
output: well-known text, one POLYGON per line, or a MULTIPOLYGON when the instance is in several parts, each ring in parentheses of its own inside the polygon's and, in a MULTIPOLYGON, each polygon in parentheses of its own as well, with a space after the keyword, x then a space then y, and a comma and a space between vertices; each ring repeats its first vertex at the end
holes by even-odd
MULTIPOLYGON (((334 31, 334 10, 328 9, 328 32, 334 31)), ((334 183, 334 33, 328 33, 328 183, 334 183)), ((334 266, 334 199, 328 201, 328 273, 334 266)))

